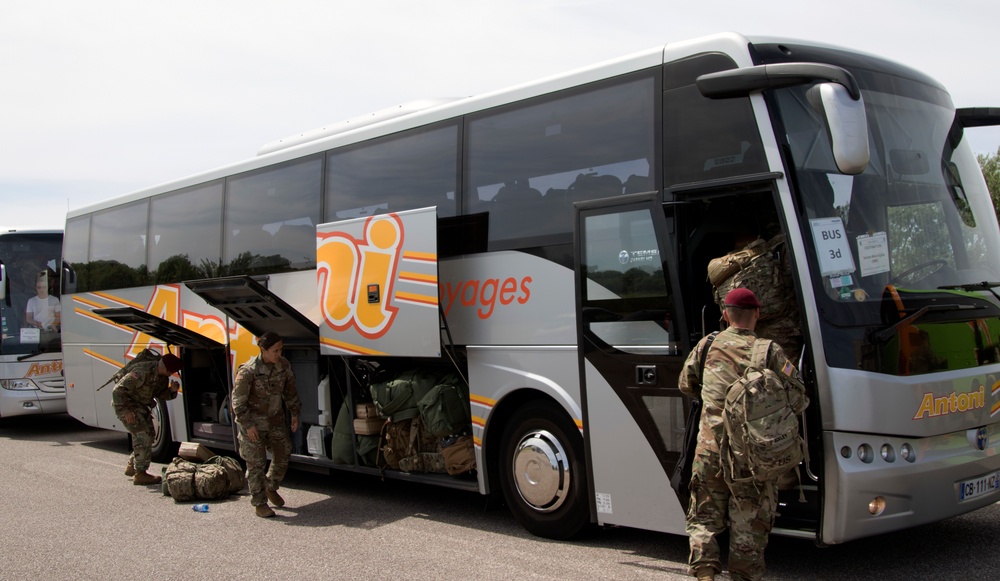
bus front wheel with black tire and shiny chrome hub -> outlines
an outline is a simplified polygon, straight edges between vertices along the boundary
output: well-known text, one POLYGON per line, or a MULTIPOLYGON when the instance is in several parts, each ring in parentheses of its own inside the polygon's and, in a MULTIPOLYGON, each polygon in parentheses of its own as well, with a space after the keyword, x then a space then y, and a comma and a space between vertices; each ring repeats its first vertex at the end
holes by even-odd
POLYGON ((583 438, 566 412, 528 403, 511 417, 500 445, 500 486, 521 526, 556 540, 589 527, 583 438))

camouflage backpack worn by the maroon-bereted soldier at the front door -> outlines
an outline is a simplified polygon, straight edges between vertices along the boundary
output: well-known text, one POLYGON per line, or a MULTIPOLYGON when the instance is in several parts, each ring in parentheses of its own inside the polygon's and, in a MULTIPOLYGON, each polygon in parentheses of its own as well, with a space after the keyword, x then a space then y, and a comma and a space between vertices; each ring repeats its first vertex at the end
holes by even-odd
POLYGON ((726 391, 720 455, 729 483, 777 480, 807 454, 799 433, 799 414, 809 401, 805 386, 768 369, 771 344, 754 342, 750 366, 726 391))

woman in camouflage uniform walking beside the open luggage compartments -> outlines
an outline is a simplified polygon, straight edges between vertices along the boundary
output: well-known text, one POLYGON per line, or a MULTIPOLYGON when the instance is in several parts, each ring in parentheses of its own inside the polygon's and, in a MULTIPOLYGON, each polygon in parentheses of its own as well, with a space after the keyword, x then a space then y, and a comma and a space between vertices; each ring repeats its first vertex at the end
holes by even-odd
POLYGON ((299 429, 299 396, 295 375, 288 360, 281 356, 284 343, 277 333, 267 332, 257 339, 260 355, 240 366, 233 388, 233 415, 239 428, 240 456, 247 463, 250 504, 259 517, 272 517, 267 505, 282 507, 285 500, 278 485, 288 471, 292 439, 285 424, 282 401, 292 416, 292 431, 299 429), (271 467, 265 477, 267 452, 271 467))

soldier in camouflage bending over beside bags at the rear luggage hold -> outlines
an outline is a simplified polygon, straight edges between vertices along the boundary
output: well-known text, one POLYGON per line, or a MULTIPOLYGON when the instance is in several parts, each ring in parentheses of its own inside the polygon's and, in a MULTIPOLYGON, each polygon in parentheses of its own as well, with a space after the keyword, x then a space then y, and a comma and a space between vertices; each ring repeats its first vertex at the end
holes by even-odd
POLYGON ((159 476, 146 472, 156 437, 150 410, 156 405, 154 398, 166 401, 177 397, 180 384, 169 377, 180 368, 181 360, 170 353, 157 360, 136 363, 118 380, 111 393, 115 415, 132 435, 132 454, 125 467, 125 476, 131 476, 133 484, 160 482, 159 476))

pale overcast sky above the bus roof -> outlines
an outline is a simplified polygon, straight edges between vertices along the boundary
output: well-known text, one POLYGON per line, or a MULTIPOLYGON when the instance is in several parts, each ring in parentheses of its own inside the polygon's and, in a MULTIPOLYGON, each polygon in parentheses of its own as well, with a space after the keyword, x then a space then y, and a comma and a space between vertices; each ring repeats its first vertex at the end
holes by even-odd
MULTIPOLYGON (((0 226, 399 105, 715 32, 878 54, 1000 106, 997 0, 0 0, 0 226)), ((996 153, 1000 130, 978 130, 996 153)))

